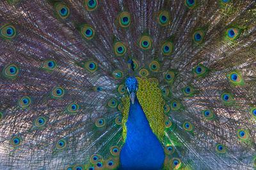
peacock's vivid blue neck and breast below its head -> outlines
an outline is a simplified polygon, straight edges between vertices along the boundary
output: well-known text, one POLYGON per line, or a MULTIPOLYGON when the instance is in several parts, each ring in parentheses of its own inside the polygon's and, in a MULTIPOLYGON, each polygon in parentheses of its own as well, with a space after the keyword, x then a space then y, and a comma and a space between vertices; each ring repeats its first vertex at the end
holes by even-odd
POLYGON ((164 150, 152 132, 147 117, 136 97, 130 103, 127 138, 120 153, 120 169, 161 169, 164 150))

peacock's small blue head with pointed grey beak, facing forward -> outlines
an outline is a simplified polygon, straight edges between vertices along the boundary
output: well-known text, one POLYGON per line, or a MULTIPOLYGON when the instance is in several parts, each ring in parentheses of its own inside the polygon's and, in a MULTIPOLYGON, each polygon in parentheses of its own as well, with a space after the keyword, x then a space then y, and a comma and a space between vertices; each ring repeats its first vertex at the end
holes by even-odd
POLYGON ((134 100, 136 97, 136 92, 138 90, 138 82, 135 77, 129 77, 125 81, 125 87, 129 94, 132 104, 134 104, 134 100))

